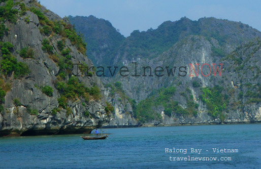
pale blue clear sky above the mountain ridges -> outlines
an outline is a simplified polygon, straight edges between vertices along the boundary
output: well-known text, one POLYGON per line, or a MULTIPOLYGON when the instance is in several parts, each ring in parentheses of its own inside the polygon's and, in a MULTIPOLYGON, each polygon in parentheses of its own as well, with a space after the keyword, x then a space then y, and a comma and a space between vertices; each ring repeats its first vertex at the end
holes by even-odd
POLYGON ((241 21, 261 31, 260 0, 41 0, 40 3, 60 17, 93 15, 109 20, 125 37, 134 30, 156 29, 162 22, 184 16, 191 20, 215 17, 241 21))

